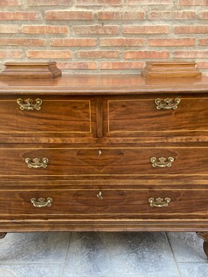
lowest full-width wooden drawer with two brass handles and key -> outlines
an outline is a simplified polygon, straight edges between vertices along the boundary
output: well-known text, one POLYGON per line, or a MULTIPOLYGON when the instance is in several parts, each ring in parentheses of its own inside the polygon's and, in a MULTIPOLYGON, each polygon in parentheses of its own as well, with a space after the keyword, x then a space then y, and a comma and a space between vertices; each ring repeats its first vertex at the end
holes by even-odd
POLYGON ((1 190, 0 215, 208 215, 208 190, 1 190))

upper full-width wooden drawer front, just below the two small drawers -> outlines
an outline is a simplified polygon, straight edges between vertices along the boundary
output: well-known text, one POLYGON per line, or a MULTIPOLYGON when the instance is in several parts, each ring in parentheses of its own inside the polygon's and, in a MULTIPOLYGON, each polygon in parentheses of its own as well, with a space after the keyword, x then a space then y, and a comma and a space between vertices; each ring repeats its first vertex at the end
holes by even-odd
POLYGON ((208 148, 0 149, 0 177, 205 175, 208 148))

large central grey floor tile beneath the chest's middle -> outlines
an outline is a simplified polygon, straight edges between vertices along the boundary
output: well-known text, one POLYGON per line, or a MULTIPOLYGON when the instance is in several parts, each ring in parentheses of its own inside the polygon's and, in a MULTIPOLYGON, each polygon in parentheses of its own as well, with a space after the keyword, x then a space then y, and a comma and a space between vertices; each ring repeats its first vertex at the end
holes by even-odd
POLYGON ((180 276, 165 233, 72 233, 63 277, 180 276))

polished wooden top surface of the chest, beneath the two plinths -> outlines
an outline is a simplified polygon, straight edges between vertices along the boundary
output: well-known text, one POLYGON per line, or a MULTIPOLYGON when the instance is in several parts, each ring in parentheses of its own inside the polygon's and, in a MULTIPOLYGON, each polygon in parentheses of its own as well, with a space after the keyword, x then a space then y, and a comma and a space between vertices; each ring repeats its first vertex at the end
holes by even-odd
POLYGON ((208 92, 208 77, 202 78, 145 78, 139 74, 120 75, 70 75, 55 79, 0 80, 3 94, 141 94, 168 92, 208 92))

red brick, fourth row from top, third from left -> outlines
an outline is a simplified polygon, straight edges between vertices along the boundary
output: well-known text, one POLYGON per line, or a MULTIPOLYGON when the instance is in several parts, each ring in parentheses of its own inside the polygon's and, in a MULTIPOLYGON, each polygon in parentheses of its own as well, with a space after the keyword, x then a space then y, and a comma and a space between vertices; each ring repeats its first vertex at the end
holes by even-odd
POLYGON ((100 46, 144 46, 146 39, 135 39, 135 38, 103 38, 100 39, 100 46))

